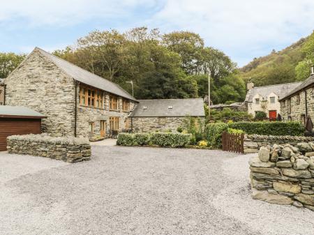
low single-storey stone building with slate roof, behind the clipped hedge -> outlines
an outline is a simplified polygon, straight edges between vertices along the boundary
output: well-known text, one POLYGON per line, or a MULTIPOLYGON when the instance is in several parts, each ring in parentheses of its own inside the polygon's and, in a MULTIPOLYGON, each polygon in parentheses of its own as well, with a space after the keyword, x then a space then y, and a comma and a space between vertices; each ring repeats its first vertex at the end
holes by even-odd
POLYGON ((202 98, 138 100, 140 103, 130 114, 130 123, 135 132, 154 130, 177 131, 186 116, 204 121, 202 98))

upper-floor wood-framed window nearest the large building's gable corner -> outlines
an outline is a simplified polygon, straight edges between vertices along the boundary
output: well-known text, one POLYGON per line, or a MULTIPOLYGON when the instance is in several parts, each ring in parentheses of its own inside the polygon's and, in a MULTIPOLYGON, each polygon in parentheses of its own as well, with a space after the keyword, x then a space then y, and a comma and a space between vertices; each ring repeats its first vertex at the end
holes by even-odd
POLYGON ((103 91, 80 86, 80 105, 103 109, 103 91))

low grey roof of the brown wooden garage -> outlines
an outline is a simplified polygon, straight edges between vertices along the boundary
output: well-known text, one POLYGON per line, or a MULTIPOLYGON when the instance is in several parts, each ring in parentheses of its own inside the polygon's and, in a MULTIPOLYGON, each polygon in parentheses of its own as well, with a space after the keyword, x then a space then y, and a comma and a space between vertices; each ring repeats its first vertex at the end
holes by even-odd
POLYGON ((38 117, 40 119, 45 118, 43 114, 24 106, 10 106, 10 105, 0 105, 0 117, 14 117, 14 116, 24 116, 24 117, 38 117))

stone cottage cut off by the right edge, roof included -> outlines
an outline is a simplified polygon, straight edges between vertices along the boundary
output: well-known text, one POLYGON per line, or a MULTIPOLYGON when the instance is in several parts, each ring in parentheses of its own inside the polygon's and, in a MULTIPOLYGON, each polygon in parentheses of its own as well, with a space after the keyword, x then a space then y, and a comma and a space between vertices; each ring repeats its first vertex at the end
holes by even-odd
POLYGON ((306 116, 314 118, 314 72, 299 86, 287 93, 280 100, 281 115, 286 121, 301 121, 306 116))

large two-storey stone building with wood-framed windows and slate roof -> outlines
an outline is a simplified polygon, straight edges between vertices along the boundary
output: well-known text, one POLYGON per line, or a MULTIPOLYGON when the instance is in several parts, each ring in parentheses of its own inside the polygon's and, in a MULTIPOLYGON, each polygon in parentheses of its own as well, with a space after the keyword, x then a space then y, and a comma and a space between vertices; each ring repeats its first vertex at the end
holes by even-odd
POLYGON ((100 135, 129 129, 138 101, 119 85, 36 47, 6 79, 6 105, 47 116, 42 131, 54 136, 100 135))

